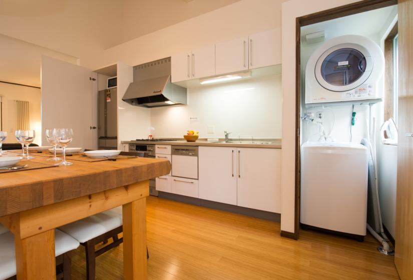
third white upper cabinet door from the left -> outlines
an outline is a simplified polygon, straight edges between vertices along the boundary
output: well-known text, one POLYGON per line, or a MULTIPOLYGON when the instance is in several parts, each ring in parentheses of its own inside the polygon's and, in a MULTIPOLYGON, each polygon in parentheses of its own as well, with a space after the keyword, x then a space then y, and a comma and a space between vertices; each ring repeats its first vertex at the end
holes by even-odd
POLYGON ((248 37, 215 44, 215 74, 248 69, 248 37))

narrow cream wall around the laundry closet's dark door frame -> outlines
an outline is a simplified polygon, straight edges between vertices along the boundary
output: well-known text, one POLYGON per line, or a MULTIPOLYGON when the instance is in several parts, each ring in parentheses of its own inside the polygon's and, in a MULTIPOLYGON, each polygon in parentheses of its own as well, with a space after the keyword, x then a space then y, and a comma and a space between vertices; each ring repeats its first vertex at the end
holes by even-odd
POLYGON ((296 17, 356 0, 290 0, 282 4, 281 230, 294 232, 295 199, 295 20, 296 17))

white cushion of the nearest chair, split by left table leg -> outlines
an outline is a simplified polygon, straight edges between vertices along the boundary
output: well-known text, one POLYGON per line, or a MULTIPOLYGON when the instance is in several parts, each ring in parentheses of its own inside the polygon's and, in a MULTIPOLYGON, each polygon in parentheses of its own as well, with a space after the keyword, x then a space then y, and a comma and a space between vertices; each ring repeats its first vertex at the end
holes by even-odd
MULTIPOLYGON (((68 234, 55 229, 55 255, 79 247, 79 242, 68 234)), ((15 235, 8 231, 0 234, 0 280, 16 275, 15 235)))

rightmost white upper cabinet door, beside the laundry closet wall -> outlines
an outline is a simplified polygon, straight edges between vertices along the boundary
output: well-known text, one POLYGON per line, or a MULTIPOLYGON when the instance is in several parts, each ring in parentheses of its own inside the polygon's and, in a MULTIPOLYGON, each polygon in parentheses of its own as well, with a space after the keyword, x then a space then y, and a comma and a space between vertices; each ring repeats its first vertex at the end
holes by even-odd
POLYGON ((281 63, 281 28, 249 35, 249 68, 281 63))

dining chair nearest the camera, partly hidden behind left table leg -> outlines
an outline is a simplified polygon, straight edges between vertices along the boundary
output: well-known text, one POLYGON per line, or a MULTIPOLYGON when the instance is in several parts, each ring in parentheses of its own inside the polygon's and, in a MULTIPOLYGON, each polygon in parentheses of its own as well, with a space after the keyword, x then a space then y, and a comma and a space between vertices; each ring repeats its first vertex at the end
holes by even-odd
MULTIPOLYGON (((64 280, 71 278, 71 251, 79 247, 79 242, 72 236, 55 229, 55 255, 62 257, 62 263, 56 266, 56 274, 63 274, 64 280)), ((0 280, 16 279, 15 236, 0 224, 0 280)))

